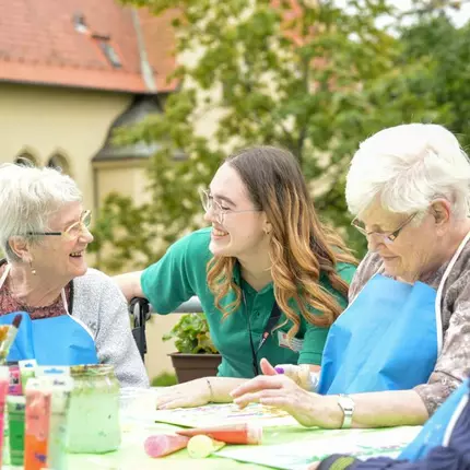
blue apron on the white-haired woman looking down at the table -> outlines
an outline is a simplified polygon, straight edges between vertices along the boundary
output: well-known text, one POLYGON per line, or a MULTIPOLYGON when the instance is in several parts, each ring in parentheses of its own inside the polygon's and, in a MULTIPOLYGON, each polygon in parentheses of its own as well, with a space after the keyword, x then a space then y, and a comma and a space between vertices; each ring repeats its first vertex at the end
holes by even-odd
POLYGON ((438 354, 436 291, 374 275, 334 321, 318 392, 404 390, 427 381, 438 354))

